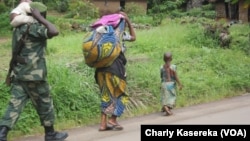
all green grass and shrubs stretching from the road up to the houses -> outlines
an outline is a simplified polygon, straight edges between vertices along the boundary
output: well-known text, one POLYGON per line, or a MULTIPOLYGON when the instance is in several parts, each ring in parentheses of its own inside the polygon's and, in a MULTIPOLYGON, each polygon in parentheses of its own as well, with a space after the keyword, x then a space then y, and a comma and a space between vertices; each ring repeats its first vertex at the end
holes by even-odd
MULTIPOLYGON (((177 5, 172 4, 173 7, 177 5)), ((65 3, 58 5, 67 8, 65 3)), ((74 6, 69 4, 68 8, 74 9, 74 6)), ((84 9, 91 5, 81 6, 84 9)), ((173 53, 173 63, 177 64, 184 85, 178 92, 177 108, 250 92, 250 26, 236 23, 228 27, 224 21, 204 18, 204 15, 214 16, 211 10, 200 15, 199 11, 210 8, 194 9, 188 14, 173 8, 165 13, 168 16, 158 17, 160 22, 155 20, 156 15, 143 16, 136 7, 128 9, 138 12, 138 15, 129 14, 136 24, 137 40, 126 44, 128 94, 131 97, 122 118, 160 111, 160 66, 166 51, 173 53), (230 33, 230 42, 226 46, 221 44, 219 35, 222 31, 230 33)), ((95 12, 94 9, 91 12, 93 17, 95 12)), ((94 81, 94 69, 84 64, 82 55, 85 29, 93 17, 80 17, 77 10, 65 14, 52 10, 48 14, 48 19, 60 30, 60 36, 48 40, 47 48, 48 79, 57 129, 99 123, 99 91, 94 81), (78 28, 72 28, 72 25, 78 28)), ((4 27, 0 35, 5 37, 4 41, 0 40, 0 107, 3 107, 0 115, 3 115, 10 98, 10 88, 3 84, 11 54, 7 12, 0 15, 0 26, 4 27)), ((43 133, 31 103, 11 132, 10 138, 43 133)))

